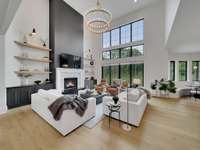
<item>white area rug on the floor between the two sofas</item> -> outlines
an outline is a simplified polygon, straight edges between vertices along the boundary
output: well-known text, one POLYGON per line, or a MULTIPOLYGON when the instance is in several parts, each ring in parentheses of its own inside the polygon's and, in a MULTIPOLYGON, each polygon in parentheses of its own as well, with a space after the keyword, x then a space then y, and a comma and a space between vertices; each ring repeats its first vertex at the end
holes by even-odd
POLYGON ((99 104, 96 107, 96 116, 87 121, 84 126, 87 128, 94 128, 103 119, 103 104, 99 104))

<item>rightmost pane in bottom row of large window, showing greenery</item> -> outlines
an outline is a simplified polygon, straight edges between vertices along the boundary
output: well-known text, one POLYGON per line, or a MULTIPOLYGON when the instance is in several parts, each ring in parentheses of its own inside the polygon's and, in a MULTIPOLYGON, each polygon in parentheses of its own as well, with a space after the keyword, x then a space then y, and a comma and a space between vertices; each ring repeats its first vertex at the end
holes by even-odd
POLYGON ((144 64, 132 64, 132 80, 140 79, 144 85, 144 64))

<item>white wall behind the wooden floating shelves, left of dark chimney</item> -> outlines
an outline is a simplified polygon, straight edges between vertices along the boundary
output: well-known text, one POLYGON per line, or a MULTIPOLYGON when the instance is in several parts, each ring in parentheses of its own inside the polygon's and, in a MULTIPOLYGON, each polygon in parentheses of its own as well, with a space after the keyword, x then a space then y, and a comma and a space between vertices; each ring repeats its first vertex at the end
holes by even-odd
MULTIPOLYGON (((15 17, 5 34, 5 56, 6 56, 6 87, 19 86, 20 78, 14 73, 20 69, 20 61, 15 59, 15 55, 20 55, 21 52, 27 52, 30 56, 43 57, 48 56, 47 52, 34 51, 27 48, 22 48, 14 43, 15 40, 23 40, 24 35, 32 32, 36 28, 38 35, 29 37, 30 43, 41 44, 40 38, 49 38, 49 0, 22 0, 15 14, 15 17)), ((48 64, 37 62, 24 62, 30 69, 44 69, 48 64)), ((31 77, 29 82, 34 80, 45 80, 44 76, 31 77)))

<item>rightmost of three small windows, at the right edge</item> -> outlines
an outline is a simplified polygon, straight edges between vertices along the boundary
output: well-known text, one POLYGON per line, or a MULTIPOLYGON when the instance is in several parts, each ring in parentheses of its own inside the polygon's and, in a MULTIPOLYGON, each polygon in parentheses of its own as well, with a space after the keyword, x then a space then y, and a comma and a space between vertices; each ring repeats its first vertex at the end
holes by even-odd
POLYGON ((200 61, 192 62, 192 81, 200 80, 200 61))

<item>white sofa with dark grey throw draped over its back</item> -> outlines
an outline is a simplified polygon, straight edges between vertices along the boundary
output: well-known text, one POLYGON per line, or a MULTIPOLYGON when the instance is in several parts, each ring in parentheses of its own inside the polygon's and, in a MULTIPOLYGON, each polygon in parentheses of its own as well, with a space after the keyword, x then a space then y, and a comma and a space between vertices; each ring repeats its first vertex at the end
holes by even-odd
POLYGON ((65 110, 61 120, 56 121, 49 111, 48 106, 60 96, 62 96, 62 94, 57 90, 49 90, 46 92, 44 90, 42 92, 39 91, 31 96, 31 108, 65 136, 95 116, 96 99, 88 99, 88 108, 83 117, 77 115, 74 110, 65 110))

